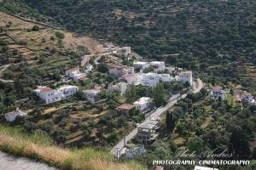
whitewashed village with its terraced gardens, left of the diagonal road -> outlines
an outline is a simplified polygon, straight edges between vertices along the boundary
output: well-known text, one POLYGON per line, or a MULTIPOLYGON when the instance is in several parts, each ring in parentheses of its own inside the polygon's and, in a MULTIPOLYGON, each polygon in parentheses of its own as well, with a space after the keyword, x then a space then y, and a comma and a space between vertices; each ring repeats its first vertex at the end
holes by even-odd
MULTIPOLYGON (((9 23, 7 22, 9 26, 3 36, 12 37, 17 33, 12 33, 11 28, 16 28, 23 21, 14 17, 9 17, 9 20, 9 23)), ((37 31, 42 31, 41 33, 44 31, 54 32, 53 28, 45 29, 39 25, 27 25, 26 29, 30 28, 35 30, 33 31, 35 33, 37 31)), ((19 35, 21 35, 23 30, 16 29, 20 31, 19 35)), ((145 116, 161 105, 165 105, 167 99, 184 93, 186 88, 189 90, 189 87, 192 86, 192 71, 166 66, 163 61, 143 61, 143 57, 135 54, 131 47, 115 47, 112 43, 103 42, 81 51, 82 46, 87 47, 86 43, 78 43, 84 40, 88 41, 87 37, 84 37, 83 40, 76 36, 78 37, 76 42, 73 42, 75 37, 71 39, 71 42, 67 42, 70 33, 57 31, 54 35, 55 37, 59 36, 60 43, 64 42, 63 46, 58 45, 58 50, 65 49, 66 53, 71 53, 68 50, 76 50, 75 58, 68 59, 67 56, 61 56, 63 53, 61 51, 53 54, 55 57, 50 57, 47 54, 49 48, 38 48, 35 53, 44 52, 46 54, 40 54, 41 57, 37 60, 32 59, 27 62, 26 55, 18 52, 24 57, 26 65, 36 66, 40 69, 45 67, 49 76, 45 77, 44 82, 34 82, 33 88, 31 87, 28 92, 30 96, 21 99, 20 103, 12 107, 12 110, 9 109, 9 112, 5 112, 3 120, 13 125, 23 122, 28 131, 41 129, 48 132, 49 135, 58 133, 54 137, 58 143, 79 146, 91 142, 93 145, 114 144, 124 133, 129 133, 129 129, 136 127, 134 122, 143 122, 145 116), (49 61, 45 63, 46 59, 56 63, 53 64, 49 61), (119 62, 114 63, 112 59, 119 60, 119 62), (66 62, 67 60, 68 62, 66 62), (56 71, 54 65, 61 71, 56 71), (164 100, 158 103, 159 101, 155 100, 158 96, 155 96, 153 89, 163 83, 168 88, 165 89, 166 92, 160 94, 164 95, 162 96, 164 100), (175 84, 173 89, 171 84, 175 84), (24 102, 30 105, 25 105, 24 102), (63 112, 69 112, 69 114, 66 115, 63 112), (113 117, 117 124, 109 126, 106 121, 103 121, 109 119, 109 116, 113 117), (99 127, 94 127, 93 124, 96 122, 101 122, 99 127), (119 130, 114 129, 121 125, 125 126, 119 130), (102 127, 108 127, 109 130, 103 131, 102 127), (103 135, 99 135, 100 133, 103 135)), ((44 44, 48 41, 47 38, 45 37, 44 41, 39 40, 44 44)), ((26 41, 27 43, 22 48, 30 45, 28 37, 26 37, 26 41)), ((90 40, 90 42, 92 41, 90 40)), ((9 46, 10 42, 7 42, 7 45, 9 46)), ((40 46, 38 45, 38 47, 40 46)), ((32 47, 29 48, 33 50, 32 47)), ((18 60, 14 61, 15 64, 11 65, 20 65, 19 62, 18 60)), ((4 68, 5 65, 3 65, 4 68)), ((3 70, 3 81, 12 78, 8 76, 9 74, 19 75, 20 73, 15 68, 3 70), (10 73, 11 71, 13 73, 10 73)))

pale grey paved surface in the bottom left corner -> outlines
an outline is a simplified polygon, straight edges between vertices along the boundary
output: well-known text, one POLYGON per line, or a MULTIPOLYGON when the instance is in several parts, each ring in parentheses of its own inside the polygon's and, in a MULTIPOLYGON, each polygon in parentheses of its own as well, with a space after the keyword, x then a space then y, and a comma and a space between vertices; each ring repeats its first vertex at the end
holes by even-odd
POLYGON ((0 151, 0 170, 56 170, 56 168, 26 158, 9 156, 0 151))

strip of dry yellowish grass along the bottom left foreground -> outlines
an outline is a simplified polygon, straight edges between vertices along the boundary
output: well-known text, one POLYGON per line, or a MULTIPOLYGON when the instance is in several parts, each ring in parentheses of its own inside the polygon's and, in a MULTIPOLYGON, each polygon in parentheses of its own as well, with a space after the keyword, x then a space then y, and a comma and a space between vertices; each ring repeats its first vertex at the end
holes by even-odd
POLYGON ((16 156, 26 156, 44 161, 61 169, 75 170, 131 170, 144 169, 136 162, 115 162, 107 152, 85 148, 81 150, 63 149, 44 134, 28 135, 20 129, 0 125, 0 150, 16 156))

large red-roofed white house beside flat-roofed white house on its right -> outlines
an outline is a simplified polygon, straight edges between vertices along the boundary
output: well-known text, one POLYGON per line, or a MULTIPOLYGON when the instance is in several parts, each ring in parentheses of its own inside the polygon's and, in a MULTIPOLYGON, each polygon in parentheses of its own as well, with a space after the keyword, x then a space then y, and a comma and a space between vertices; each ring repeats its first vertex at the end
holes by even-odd
POLYGON ((33 90, 40 99, 43 99, 46 104, 61 100, 61 94, 55 95, 55 90, 44 86, 39 86, 33 90))

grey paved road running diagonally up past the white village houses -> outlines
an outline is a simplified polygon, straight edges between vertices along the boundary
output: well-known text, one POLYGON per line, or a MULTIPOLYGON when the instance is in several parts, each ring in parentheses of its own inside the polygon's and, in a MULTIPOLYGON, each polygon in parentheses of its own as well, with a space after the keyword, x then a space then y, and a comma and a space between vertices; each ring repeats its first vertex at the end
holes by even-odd
MULTIPOLYGON (((201 81, 201 79, 197 79, 196 82, 193 83, 193 93, 198 93, 201 88, 203 88, 203 82, 201 81)), ((187 96, 187 94, 183 94, 182 96, 180 96, 179 99, 183 99, 187 96)), ((170 101, 167 103, 166 106, 164 107, 160 107, 159 109, 157 109, 156 111, 154 111, 152 114, 150 114, 150 116, 147 116, 145 121, 143 123, 148 123, 151 120, 157 120, 160 119, 161 115, 164 114, 166 111, 168 111, 173 105, 175 105, 177 103, 178 99, 175 99, 173 101, 170 101)), ((111 153, 114 156, 118 156, 118 150, 123 150, 123 148, 125 147, 125 144, 127 144, 127 141, 133 139, 137 134, 137 127, 131 131, 131 133, 129 133, 127 136, 125 136, 124 139, 122 139, 121 141, 119 141, 118 144, 116 144, 113 149, 111 150, 111 153)))

